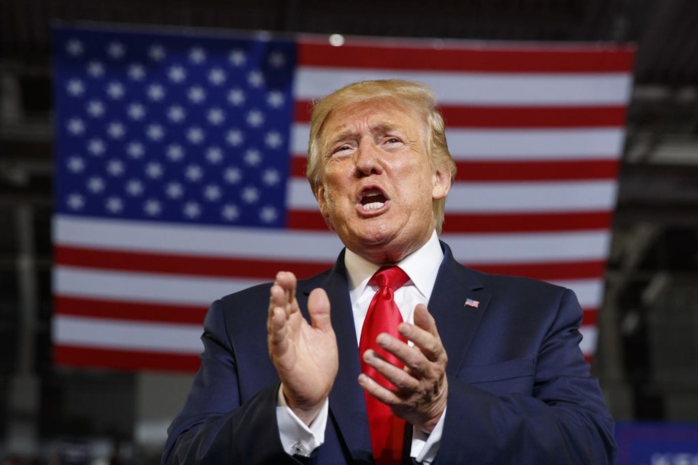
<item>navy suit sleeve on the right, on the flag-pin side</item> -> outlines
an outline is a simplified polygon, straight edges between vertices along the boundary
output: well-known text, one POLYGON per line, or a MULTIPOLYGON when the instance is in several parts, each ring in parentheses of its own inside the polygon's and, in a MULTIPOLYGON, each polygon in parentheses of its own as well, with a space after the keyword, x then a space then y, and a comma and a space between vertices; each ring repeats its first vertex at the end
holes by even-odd
POLYGON ((435 465, 614 463, 614 422, 579 350, 581 316, 566 289, 540 346, 532 395, 493 395, 448 379, 435 465))

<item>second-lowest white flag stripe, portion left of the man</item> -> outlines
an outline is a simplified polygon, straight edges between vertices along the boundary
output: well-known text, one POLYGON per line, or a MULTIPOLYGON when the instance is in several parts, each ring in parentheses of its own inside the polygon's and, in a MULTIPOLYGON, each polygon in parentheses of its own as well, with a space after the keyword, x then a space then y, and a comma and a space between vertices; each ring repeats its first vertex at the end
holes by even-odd
POLYGON ((208 307, 217 298, 273 278, 201 277, 57 265, 53 268, 53 291, 64 297, 208 307))

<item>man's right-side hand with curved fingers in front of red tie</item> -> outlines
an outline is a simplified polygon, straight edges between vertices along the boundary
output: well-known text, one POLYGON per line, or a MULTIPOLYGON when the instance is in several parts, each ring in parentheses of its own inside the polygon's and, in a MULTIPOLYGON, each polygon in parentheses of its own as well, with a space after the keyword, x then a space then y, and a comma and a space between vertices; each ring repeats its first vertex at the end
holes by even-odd
POLYGON ((378 335, 376 342, 399 358, 405 369, 388 363, 370 349, 363 354, 364 361, 383 374, 395 388, 384 388, 366 374, 359 375, 359 384, 389 406, 395 416, 431 433, 446 408, 446 351, 433 317, 422 304, 415 307, 415 324, 400 323, 398 331, 415 345, 410 347, 387 333, 378 335))

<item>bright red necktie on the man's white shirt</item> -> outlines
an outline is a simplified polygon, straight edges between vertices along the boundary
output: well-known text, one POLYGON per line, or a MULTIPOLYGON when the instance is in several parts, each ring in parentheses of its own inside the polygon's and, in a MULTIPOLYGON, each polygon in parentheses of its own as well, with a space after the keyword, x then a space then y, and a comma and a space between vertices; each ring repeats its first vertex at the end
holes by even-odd
MULTIPOLYGON (((385 388, 394 386, 373 367, 364 363, 363 356, 366 349, 373 349, 389 363, 397 367, 403 367, 403 363, 392 354, 381 349, 376 344, 376 337, 380 333, 388 333, 403 342, 407 340, 399 335, 397 326, 402 321, 400 310, 395 304, 394 291, 408 282, 410 278, 397 266, 380 268, 369 284, 378 285, 380 288, 373 296, 369 311, 366 313, 364 326, 361 330, 359 342, 359 356, 361 358, 362 372, 371 376, 377 383, 385 388)), ((376 464, 399 464, 402 459, 402 443, 405 432, 405 420, 397 418, 390 412, 390 407, 374 399, 366 392, 366 411, 369 416, 369 429, 371 430, 371 443, 373 444, 373 457, 376 464)))

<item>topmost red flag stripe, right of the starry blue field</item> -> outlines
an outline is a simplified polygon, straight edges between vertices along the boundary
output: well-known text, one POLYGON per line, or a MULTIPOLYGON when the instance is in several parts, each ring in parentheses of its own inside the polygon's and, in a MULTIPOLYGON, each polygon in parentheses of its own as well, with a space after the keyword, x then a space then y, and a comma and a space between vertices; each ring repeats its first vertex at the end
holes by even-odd
POLYGON ((495 73, 630 73, 633 47, 406 47, 404 42, 332 47, 317 40, 298 44, 299 66, 383 70, 475 71, 495 73))

